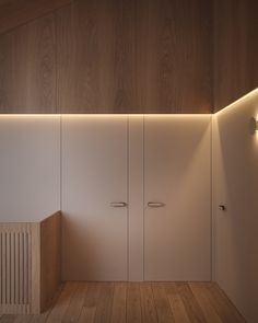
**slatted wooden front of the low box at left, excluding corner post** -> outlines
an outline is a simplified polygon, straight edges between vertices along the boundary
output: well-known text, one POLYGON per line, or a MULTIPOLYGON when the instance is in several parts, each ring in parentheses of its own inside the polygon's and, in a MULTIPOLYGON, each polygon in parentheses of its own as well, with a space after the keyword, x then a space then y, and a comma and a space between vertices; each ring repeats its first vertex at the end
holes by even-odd
POLYGON ((0 223, 0 313, 28 310, 30 224, 0 223))

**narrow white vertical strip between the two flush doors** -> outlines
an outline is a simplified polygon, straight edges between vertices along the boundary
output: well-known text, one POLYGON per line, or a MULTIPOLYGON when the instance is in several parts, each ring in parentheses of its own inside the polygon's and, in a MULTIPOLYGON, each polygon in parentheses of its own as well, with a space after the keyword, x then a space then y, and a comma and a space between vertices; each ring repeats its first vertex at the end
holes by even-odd
POLYGON ((143 116, 129 116, 129 280, 143 280, 143 116))

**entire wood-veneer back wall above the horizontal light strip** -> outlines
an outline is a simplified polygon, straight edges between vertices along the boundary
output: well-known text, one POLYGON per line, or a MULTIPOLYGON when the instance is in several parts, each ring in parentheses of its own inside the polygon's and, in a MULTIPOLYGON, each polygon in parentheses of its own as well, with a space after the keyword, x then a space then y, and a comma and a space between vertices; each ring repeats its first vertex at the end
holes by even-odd
POLYGON ((0 113, 210 113, 206 0, 74 0, 0 35, 0 113))

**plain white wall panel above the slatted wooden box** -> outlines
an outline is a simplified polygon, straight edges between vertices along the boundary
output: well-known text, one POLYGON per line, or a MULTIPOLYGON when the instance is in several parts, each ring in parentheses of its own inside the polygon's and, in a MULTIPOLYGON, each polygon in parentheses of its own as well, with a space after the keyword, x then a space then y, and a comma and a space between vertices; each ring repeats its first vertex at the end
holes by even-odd
POLYGON ((0 220, 60 209, 60 117, 0 116, 0 220))

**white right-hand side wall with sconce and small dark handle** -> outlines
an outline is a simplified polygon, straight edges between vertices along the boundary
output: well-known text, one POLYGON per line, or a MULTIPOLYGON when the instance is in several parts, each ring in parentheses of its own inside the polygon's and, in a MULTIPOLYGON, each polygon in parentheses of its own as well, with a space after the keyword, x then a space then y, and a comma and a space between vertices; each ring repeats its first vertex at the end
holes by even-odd
POLYGON ((258 134, 249 132, 256 116, 258 91, 213 117, 213 278, 250 323, 258 322, 258 134))

